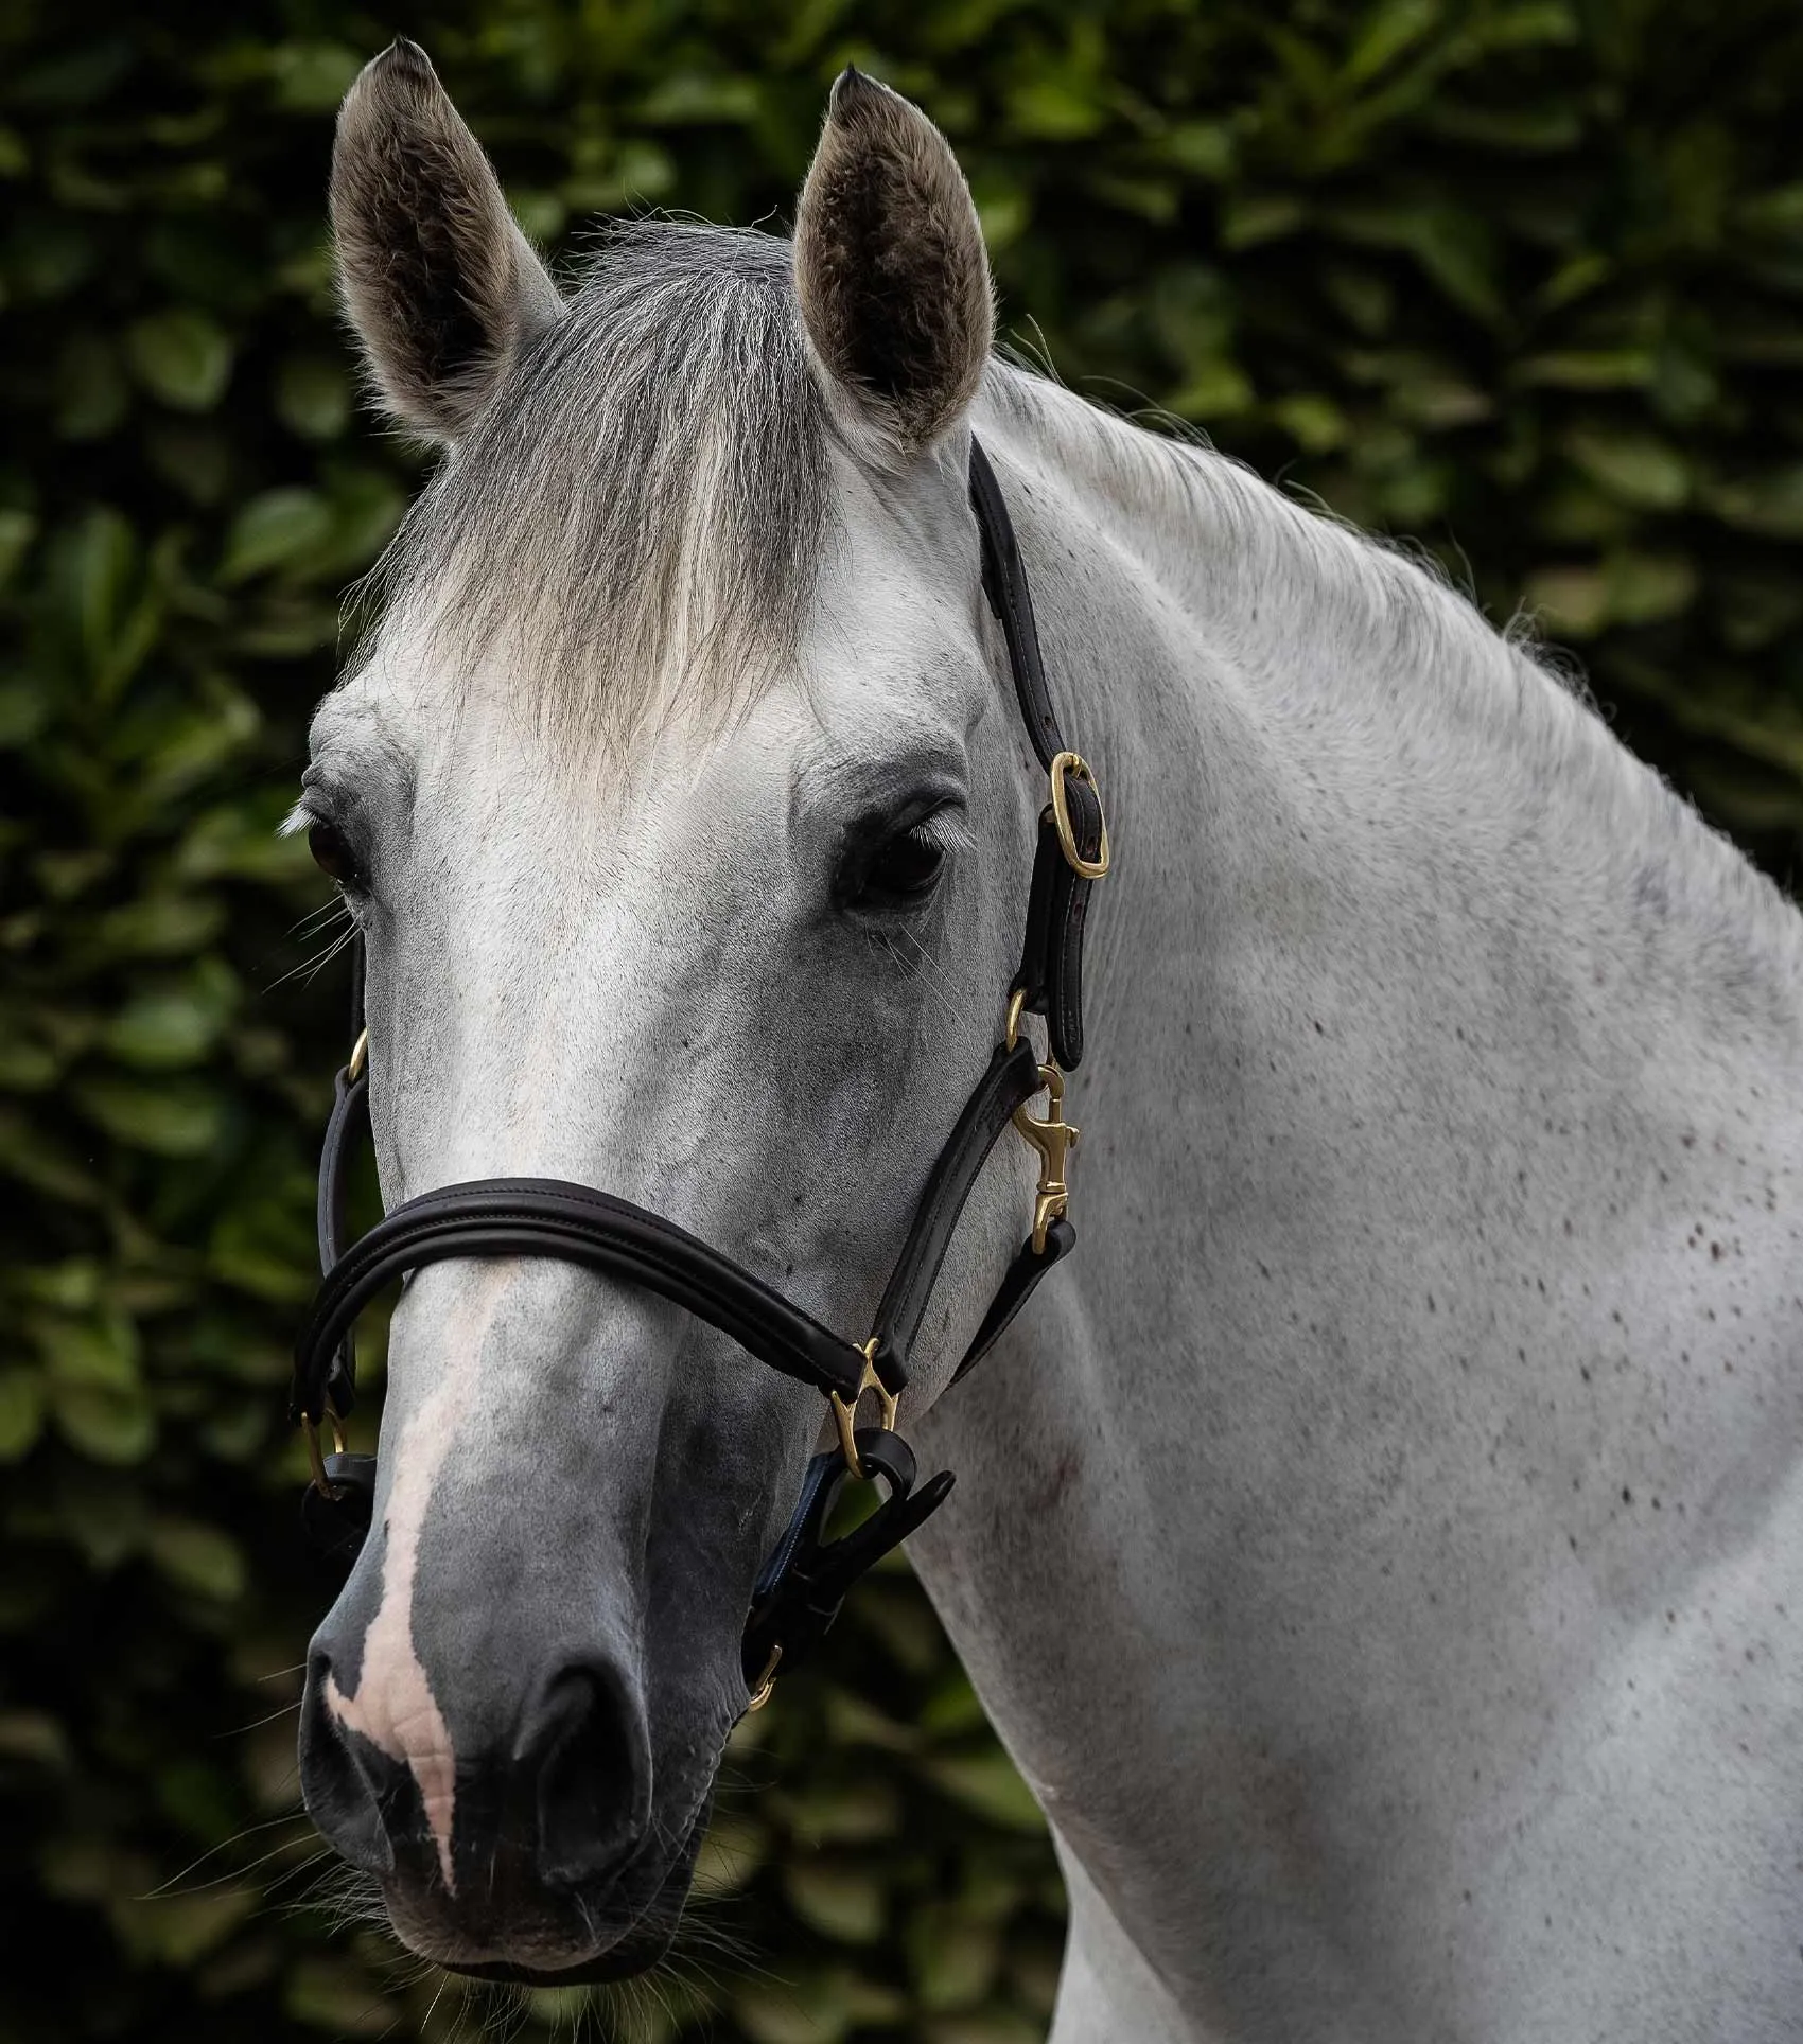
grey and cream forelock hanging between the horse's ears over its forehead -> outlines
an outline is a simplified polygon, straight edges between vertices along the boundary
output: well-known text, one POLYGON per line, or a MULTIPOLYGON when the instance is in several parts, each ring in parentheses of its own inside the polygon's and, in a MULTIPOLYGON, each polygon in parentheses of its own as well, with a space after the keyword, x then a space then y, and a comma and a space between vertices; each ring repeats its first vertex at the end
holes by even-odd
POLYGON ((789 243, 617 223, 364 585, 356 664, 497 662, 574 754, 730 715, 793 654, 826 527, 789 243))

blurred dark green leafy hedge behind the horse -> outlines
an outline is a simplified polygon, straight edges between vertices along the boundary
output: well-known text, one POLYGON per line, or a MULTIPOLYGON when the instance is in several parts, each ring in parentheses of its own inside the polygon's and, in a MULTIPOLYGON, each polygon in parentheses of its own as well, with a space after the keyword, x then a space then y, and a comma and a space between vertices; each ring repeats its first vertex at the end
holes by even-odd
MULTIPOLYGON (((395 31, 566 253, 617 208, 781 225, 832 74, 891 80, 1069 382, 1537 611, 1772 871, 1803 842, 1793 0, 10 0, 4 2044, 480 2013, 343 1921, 292 1817, 325 1590, 280 1412, 343 987, 296 971, 323 885, 274 826, 415 482, 323 245, 333 106, 395 31)), ((634 2034, 1043 2034, 1051 1852, 906 1572, 732 1778, 707 1948, 634 2034)))

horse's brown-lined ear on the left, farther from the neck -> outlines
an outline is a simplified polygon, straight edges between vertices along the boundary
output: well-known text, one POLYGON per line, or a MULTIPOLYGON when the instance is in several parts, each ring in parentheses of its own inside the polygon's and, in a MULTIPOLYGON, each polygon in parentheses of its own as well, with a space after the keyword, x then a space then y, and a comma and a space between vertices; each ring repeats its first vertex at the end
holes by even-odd
POLYGON ((417 43, 392 43, 345 94, 331 233, 370 376, 386 407, 433 439, 456 439, 519 343, 562 313, 417 43))

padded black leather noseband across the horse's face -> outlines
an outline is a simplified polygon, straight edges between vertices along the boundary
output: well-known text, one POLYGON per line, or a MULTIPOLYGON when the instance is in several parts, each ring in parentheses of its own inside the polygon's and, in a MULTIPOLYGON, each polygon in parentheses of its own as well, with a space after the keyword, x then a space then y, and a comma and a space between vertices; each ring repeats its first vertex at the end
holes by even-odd
POLYGON ((560 1257, 642 1284, 718 1327, 760 1363, 822 1392, 857 1396, 865 1357, 773 1286, 662 1214, 562 1179, 444 1186, 386 1214, 331 1267, 294 1345, 294 1419, 325 1416, 341 1333, 384 1284, 450 1257, 560 1257))

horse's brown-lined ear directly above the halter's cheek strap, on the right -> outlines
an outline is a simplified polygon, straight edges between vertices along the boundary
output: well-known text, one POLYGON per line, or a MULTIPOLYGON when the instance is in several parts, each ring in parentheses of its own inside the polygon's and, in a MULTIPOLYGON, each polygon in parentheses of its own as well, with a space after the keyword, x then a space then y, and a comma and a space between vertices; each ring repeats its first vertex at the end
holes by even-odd
POLYGON ((977 394, 996 309, 971 188, 926 114, 850 67, 795 211, 795 290, 861 439, 918 454, 977 394))

